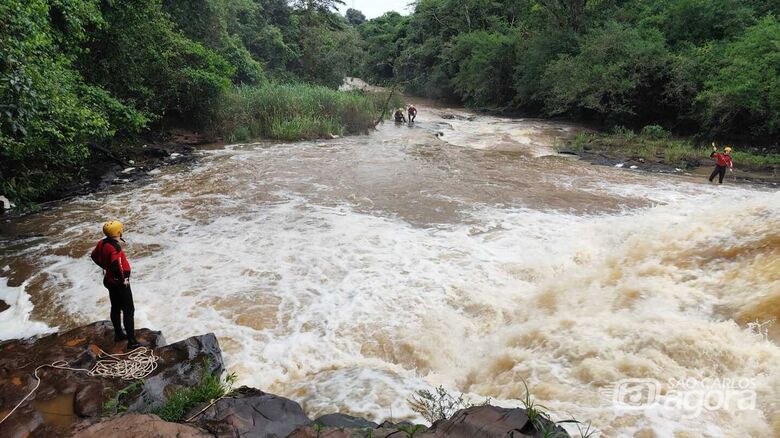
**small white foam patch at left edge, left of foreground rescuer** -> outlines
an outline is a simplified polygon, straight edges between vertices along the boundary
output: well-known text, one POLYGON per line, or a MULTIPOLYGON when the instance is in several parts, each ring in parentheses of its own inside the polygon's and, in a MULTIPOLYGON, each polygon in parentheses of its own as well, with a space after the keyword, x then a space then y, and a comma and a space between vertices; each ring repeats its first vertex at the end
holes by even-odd
POLYGON ((8 286, 8 281, 0 277, 0 300, 10 306, 0 312, 0 341, 28 338, 57 330, 57 327, 30 320, 33 305, 24 291, 25 286, 26 282, 18 287, 8 286))

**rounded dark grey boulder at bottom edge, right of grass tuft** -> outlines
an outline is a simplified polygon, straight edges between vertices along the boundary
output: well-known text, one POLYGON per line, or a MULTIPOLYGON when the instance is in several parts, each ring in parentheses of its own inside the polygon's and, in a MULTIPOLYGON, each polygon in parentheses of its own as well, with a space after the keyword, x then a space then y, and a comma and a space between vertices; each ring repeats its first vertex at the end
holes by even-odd
POLYGON ((311 420, 289 399, 242 387, 206 409, 197 424, 217 436, 286 437, 311 420))

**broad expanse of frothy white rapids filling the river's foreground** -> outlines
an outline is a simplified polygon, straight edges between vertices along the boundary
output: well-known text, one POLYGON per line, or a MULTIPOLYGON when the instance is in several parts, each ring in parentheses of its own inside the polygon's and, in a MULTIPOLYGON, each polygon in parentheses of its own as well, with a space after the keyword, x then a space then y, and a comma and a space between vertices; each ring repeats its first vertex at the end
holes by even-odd
MULTIPOLYGON (((557 419, 592 420, 604 436, 773 434, 780 348, 736 320, 780 293, 766 248, 780 193, 612 182, 582 190, 658 205, 597 215, 469 205, 468 223, 426 228, 284 189, 305 176, 236 185, 217 166, 299 152, 214 152, 190 172, 78 201, 127 218, 137 326, 168 340, 215 332, 240 383, 312 416, 415 418, 406 400, 439 384, 517 406, 525 380, 557 419), (272 196, 259 196, 270 183, 272 196), (706 376, 754 378, 759 410, 685 419, 603 396, 624 378, 706 376)), ((67 238, 97 240, 98 225, 77 221, 67 238)), ((69 312, 107 318, 99 269, 61 254, 40 259, 69 312)))

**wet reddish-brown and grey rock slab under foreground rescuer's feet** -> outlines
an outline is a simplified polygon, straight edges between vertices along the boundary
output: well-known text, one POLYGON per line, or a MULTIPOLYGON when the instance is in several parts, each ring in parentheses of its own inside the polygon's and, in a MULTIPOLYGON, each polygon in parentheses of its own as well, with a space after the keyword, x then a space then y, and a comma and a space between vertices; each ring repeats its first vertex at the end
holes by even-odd
POLYGON ((116 377, 92 377, 86 371, 99 354, 124 353, 126 342, 114 342, 108 321, 41 338, 12 340, 0 344, 0 419, 35 386, 36 367, 57 361, 79 370, 41 368, 39 388, 3 423, 0 437, 69 436, 74 424, 91 424, 106 412, 106 402, 126 388, 135 389, 121 399, 129 412, 147 411, 165 401, 176 389, 193 386, 204 371, 224 370, 217 338, 209 333, 165 345, 160 332, 136 331, 136 337, 159 356, 155 369, 143 382, 116 377))

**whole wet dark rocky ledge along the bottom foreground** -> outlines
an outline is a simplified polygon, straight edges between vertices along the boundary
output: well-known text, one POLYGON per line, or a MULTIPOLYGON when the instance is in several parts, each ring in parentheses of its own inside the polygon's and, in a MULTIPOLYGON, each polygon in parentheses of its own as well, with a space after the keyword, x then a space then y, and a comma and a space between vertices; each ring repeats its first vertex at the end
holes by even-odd
MULTIPOLYGON (((221 375, 222 353, 214 334, 166 344, 160 332, 141 329, 139 340, 159 356, 157 368, 136 384, 86 372, 41 368, 40 387, 0 423, 0 436, 88 437, 290 437, 290 438, 420 438, 438 437, 568 437, 552 423, 545 435, 523 409, 475 406, 458 411, 430 428, 411 423, 377 424, 334 413, 310 419, 287 398, 242 387, 215 403, 202 403, 183 418, 167 422, 149 412, 179 389, 192 388, 205 373, 221 375), (133 390, 128 390, 129 387, 133 390), (121 400, 121 409, 112 401, 121 400), (109 409, 110 407, 110 409, 109 409), (197 415, 196 415, 197 414, 197 415)), ((108 321, 63 333, 0 343, 0 420, 33 389, 35 369, 65 361, 71 368, 90 369, 100 351, 122 353, 108 321)))

